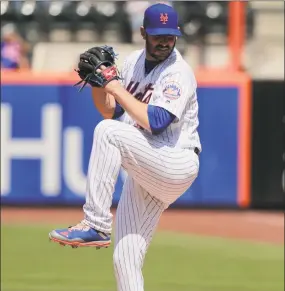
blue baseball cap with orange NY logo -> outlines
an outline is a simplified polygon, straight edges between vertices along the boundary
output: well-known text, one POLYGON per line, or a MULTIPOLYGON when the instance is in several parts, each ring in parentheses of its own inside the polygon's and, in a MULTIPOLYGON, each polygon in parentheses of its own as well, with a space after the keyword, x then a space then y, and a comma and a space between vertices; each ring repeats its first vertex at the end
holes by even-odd
POLYGON ((163 3, 154 4, 145 10, 143 26, 149 35, 182 35, 178 29, 177 12, 163 3))

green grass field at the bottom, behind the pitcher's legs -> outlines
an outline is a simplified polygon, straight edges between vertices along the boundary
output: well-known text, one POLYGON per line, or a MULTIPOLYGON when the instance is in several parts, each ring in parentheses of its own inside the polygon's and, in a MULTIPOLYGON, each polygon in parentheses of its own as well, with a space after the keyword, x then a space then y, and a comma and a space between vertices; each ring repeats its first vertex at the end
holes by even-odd
MULTIPOLYGON (((113 248, 48 241, 53 226, 1 230, 2 291, 115 291, 113 248)), ((282 246, 157 233, 147 253, 146 291, 283 291, 282 246)))

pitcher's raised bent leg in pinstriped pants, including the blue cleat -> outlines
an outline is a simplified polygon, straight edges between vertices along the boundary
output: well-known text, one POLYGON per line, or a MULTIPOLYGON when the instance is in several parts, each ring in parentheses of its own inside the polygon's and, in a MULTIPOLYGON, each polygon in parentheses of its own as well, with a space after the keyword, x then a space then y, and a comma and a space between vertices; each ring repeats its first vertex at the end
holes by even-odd
POLYGON ((195 180, 198 158, 193 150, 165 146, 132 125, 102 121, 94 132, 84 220, 75 227, 53 230, 51 240, 73 247, 110 244, 110 207, 121 166, 153 196, 170 204, 195 180))

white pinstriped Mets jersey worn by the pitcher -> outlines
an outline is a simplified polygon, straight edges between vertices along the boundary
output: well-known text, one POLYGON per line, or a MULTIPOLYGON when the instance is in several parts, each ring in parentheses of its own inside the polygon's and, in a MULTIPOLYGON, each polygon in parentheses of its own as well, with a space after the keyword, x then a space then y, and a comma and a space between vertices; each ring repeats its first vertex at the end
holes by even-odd
MULTIPOLYGON (((156 138, 164 144, 180 148, 198 147, 201 144, 197 127, 197 82, 190 66, 177 49, 149 74, 145 74, 145 49, 133 52, 122 68, 124 87, 138 100, 167 109, 176 116, 165 131, 156 138)), ((136 125, 124 113, 121 120, 136 125)))

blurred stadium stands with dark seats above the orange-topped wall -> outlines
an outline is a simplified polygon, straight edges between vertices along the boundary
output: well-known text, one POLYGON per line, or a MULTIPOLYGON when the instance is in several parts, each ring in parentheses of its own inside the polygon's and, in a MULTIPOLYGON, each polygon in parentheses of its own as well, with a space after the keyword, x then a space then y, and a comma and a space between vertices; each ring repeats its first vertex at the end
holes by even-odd
MULTIPOLYGON (((239 31, 239 27, 234 27, 236 20, 230 2, 165 2, 180 15, 183 37, 178 47, 189 63, 194 68, 225 66, 230 58, 229 32, 232 28, 239 31)), ((78 53, 90 44, 115 43, 125 56, 142 45, 139 27, 150 3, 1 1, 2 66, 9 67, 6 51, 9 39, 14 38, 21 42, 21 66, 28 65, 36 71, 70 70, 78 53)), ((283 5, 282 1, 249 1, 242 8, 243 66, 256 78, 283 78, 283 5)))

